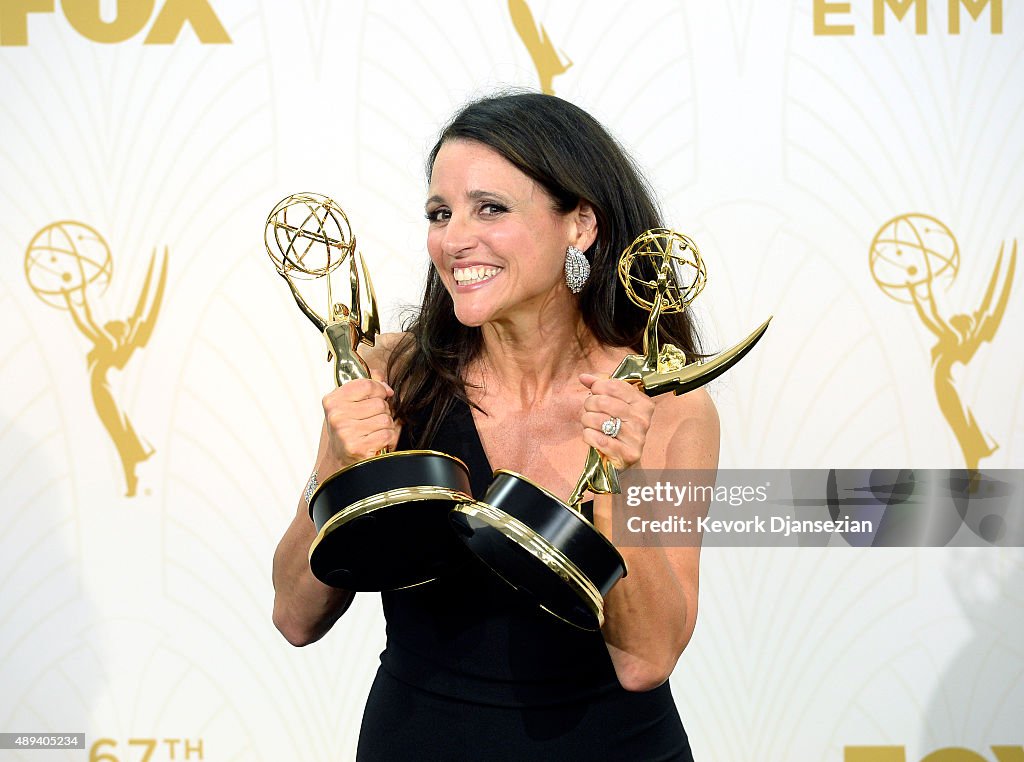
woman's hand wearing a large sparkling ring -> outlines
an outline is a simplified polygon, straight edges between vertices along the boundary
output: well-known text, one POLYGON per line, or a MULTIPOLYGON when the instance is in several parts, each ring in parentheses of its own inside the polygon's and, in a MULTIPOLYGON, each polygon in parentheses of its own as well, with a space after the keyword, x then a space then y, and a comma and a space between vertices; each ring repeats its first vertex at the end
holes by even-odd
POLYGON ((583 440, 607 458, 615 470, 625 471, 643 455, 654 403, 633 384, 616 378, 582 373, 580 381, 590 389, 581 419, 583 440), (601 424, 609 418, 622 421, 615 437, 601 431, 601 424))

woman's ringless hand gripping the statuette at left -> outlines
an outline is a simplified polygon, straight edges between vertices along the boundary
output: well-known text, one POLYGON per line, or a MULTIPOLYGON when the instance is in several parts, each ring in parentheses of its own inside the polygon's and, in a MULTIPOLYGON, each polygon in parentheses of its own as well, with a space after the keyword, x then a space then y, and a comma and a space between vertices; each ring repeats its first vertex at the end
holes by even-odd
POLYGON ((359 378, 324 397, 330 469, 337 471, 398 443, 398 426, 388 399, 394 390, 383 381, 359 378))

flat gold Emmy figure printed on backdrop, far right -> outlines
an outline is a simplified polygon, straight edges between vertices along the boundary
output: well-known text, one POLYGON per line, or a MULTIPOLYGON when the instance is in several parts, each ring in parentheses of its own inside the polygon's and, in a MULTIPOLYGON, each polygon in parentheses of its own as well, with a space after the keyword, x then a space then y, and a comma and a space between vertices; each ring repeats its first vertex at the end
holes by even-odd
POLYGON ((886 222, 871 242, 869 265, 876 285, 889 298, 912 304, 919 320, 935 335, 935 396, 970 469, 976 469, 978 462, 994 453, 998 444, 981 430, 970 406, 961 399, 952 367, 955 363, 967 366, 981 342, 992 341, 1007 311, 1017 264, 1017 242, 1000 287, 1005 247, 999 247, 978 308, 946 318, 939 309, 935 290, 939 285, 948 288, 959 270, 959 246, 949 228, 927 214, 903 214, 886 222))

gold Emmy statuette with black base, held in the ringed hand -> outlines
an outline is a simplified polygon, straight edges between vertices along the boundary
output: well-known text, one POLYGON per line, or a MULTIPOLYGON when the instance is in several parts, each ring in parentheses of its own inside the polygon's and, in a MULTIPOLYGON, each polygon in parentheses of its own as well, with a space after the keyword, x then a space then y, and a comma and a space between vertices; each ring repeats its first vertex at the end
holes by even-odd
MULTIPOLYGON (((659 344, 660 315, 685 309, 707 281, 696 245, 674 230, 655 228, 637 237, 620 257, 618 278, 649 318, 643 354, 627 355, 611 377, 650 396, 683 394, 717 378, 754 347, 771 322, 707 361, 691 361, 678 347, 659 344)), ((506 582, 559 619, 596 630, 604 624, 604 596, 626 576, 626 563, 581 512, 587 492, 618 493, 614 466, 594 448, 567 501, 500 470, 483 499, 456 506, 452 521, 469 549, 506 582)))

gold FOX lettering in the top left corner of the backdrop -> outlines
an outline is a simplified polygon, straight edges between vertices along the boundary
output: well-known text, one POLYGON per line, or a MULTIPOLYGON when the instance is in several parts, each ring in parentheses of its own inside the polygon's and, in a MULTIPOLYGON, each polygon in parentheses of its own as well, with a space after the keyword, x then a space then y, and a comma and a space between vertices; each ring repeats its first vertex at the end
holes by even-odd
MULTIPOLYGON (((154 0, 116 2, 114 18, 103 18, 98 0, 62 0, 68 23, 93 42, 124 42, 134 37, 153 15, 154 0)), ((53 0, 3 0, 0 3, 0 45, 29 44, 29 13, 52 13, 53 0)), ((231 38, 213 12, 209 0, 167 0, 142 40, 143 45, 170 45, 187 23, 205 45, 229 43, 231 38)))

